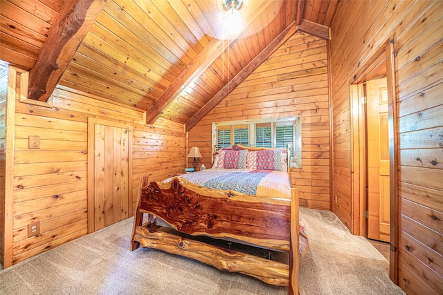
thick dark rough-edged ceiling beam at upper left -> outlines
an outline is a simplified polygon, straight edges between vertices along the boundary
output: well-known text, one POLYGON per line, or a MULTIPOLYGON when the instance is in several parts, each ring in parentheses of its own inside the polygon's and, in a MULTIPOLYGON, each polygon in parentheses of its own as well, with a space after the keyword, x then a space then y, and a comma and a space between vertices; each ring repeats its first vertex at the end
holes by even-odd
POLYGON ((46 102, 107 0, 69 0, 29 72, 28 98, 46 102))

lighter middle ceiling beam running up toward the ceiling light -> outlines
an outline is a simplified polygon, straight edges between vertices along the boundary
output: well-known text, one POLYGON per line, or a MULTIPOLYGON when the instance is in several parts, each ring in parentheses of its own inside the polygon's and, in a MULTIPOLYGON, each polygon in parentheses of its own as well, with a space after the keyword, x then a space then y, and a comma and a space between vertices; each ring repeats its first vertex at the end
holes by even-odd
MULTIPOLYGON (((265 10, 267 6, 258 6, 251 17, 248 17, 249 21, 244 23, 244 28, 248 28, 249 24, 265 10)), ((165 92, 157 99, 154 104, 146 111, 146 124, 153 124, 163 113, 163 111, 174 102, 177 96, 180 95, 192 82, 195 81, 204 71, 208 68, 217 57, 226 49, 230 44, 242 35, 242 32, 230 36, 230 41, 212 39, 210 43, 201 50, 199 55, 186 67, 183 72, 172 82, 172 84, 165 90, 165 92)))

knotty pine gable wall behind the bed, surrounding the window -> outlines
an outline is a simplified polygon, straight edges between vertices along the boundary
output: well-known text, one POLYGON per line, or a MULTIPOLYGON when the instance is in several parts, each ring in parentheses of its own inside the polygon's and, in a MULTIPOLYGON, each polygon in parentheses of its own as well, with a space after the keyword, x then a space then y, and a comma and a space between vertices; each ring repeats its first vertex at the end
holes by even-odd
POLYGON ((211 166, 211 124, 302 116, 302 168, 291 169, 300 206, 329 210, 329 92, 326 41, 296 32, 188 133, 211 166))

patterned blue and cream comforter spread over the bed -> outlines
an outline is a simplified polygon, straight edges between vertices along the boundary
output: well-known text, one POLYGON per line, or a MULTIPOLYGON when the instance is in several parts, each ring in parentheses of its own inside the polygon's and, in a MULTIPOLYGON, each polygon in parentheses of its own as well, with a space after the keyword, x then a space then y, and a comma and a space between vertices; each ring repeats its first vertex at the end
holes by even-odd
MULTIPOLYGON (((247 169, 207 169, 180 175, 189 182, 210 189, 232 190, 253 196, 291 198, 287 172, 247 169)), ((169 182, 172 178, 163 180, 169 182)))

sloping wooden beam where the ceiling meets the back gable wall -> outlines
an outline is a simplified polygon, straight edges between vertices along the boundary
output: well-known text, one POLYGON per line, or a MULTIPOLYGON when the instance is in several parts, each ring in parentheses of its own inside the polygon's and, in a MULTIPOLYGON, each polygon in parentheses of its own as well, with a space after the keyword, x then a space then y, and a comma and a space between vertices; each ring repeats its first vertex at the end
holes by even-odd
POLYGON ((221 90, 214 95, 209 102, 207 102, 195 115, 193 115, 188 122, 186 122, 185 130, 186 132, 197 124, 206 114, 210 112, 221 100, 223 100, 230 91, 233 91, 240 83, 243 82, 248 75, 250 75, 263 61, 265 61, 271 54, 274 53, 284 42, 286 42, 291 36, 297 31, 298 26, 296 21, 293 21, 287 28, 285 28, 280 35, 275 37, 271 43, 266 46, 249 64, 247 64, 242 70, 239 71, 233 79, 231 79, 228 84, 226 84, 221 90))

